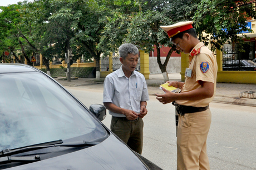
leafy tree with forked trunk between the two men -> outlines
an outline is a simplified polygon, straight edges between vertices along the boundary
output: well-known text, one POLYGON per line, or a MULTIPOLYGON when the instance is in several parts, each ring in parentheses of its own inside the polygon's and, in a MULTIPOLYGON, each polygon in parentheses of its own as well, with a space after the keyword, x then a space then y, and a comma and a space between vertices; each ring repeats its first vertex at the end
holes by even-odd
MULTIPOLYGON (((116 2, 116 1, 115 1, 116 2)), ((117 1, 121 8, 112 10, 112 16, 107 18, 107 24, 100 45, 109 51, 117 50, 123 42, 131 42, 145 52, 157 51, 157 63, 163 73, 164 80, 169 81, 166 66, 171 53, 176 51, 169 42, 168 35, 160 28, 173 24, 180 19, 190 19, 193 16, 197 1, 117 1), (125 4, 125 5, 124 5, 125 4), (189 7, 186 7, 189 6, 189 7), (180 16, 177 17, 176 14, 180 16), (107 43, 109 40, 109 43, 107 43), (107 46, 105 46, 107 44, 107 46), (154 45, 156 49, 154 49, 154 45), (160 48, 171 47, 165 62, 161 63, 160 48)))

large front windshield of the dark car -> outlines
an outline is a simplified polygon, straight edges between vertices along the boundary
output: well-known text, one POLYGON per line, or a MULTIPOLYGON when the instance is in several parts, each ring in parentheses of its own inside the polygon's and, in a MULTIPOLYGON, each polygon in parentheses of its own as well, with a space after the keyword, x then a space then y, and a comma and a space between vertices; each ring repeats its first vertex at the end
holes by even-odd
POLYGON ((97 141, 106 136, 87 109, 42 73, 0 74, 0 151, 59 139, 97 141))

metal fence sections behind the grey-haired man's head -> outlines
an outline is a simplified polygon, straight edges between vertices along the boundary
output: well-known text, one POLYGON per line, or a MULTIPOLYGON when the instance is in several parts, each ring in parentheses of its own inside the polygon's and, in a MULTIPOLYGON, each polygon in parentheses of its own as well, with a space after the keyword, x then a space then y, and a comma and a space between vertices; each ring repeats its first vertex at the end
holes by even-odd
MULTIPOLYGON (((119 58, 120 57, 112 57, 113 71, 116 71, 122 66, 119 58)), ((140 71, 140 58, 135 70, 140 71)), ((109 57, 101 58, 100 71, 109 71, 109 57)))

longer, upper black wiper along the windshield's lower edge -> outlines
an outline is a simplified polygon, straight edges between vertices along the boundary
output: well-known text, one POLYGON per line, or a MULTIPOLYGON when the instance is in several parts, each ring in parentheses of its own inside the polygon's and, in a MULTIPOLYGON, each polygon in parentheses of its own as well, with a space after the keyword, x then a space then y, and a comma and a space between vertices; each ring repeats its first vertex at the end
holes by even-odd
POLYGON ((17 154, 17 153, 28 152, 28 151, 35 151, 37 149, 50 148, 50 147, 85 147, 85 146, 95 146, 96 144, 100 143, 100 142, 86 142, 86 141, 62 143, 63 141, 62 140, 60 140, 60 141, 61 141, 61 143, 58 143, 58 144, 43 145, 41 143, 41 144, 36 144, 33 146, 21 147, 21 148, 16 148, 16 149, 3 149, 0 152, 0 157, 9 156, 12 154, 17 154))

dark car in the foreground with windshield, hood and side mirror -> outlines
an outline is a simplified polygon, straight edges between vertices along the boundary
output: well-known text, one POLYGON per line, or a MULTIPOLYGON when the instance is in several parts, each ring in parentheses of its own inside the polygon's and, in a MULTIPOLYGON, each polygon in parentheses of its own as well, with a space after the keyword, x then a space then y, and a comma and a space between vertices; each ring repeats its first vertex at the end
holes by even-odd
POLYGON ((161 169, 102 124, 105 116, 36 68, 0 64, 0 169, 161 169))

